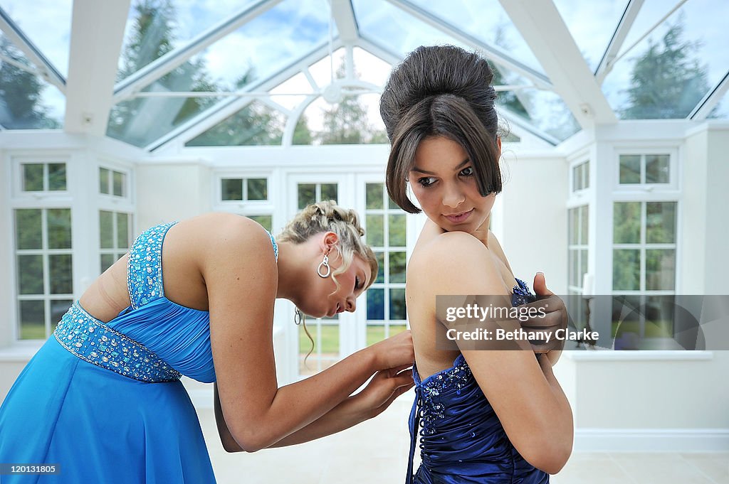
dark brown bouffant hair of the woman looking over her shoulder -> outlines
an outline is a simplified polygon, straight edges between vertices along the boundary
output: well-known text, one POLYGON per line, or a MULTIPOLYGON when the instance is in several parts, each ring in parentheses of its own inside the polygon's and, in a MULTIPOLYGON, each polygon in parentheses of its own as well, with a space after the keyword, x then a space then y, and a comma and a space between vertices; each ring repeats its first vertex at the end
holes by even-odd
POLYGON ((432 136, 464 148, 483 197, 502 190, 493 78, 485 58, 451 45, 418 47, 393 69, 380 114, 391 145, 387 193, 402 210, 421 211, 408 199, 405 185, 418 145, 432 136))

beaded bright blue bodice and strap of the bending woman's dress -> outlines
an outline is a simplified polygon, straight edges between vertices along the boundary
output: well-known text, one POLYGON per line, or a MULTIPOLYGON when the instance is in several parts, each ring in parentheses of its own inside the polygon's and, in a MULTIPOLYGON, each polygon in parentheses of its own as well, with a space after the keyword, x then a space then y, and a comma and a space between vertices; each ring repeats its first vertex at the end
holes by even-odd
MULTIPOLYGON (((181 374, 215 381, 209 313, 165 298, 162 250, 172 226, 154 226, 133 242, 127 264, 127 309, 108 323, 95 320, 78 301, 69 309, 55 331, 66 349, 140 381, 170 381, 181 374)), ((268 236, 278 260, 276 240, 268 236)))

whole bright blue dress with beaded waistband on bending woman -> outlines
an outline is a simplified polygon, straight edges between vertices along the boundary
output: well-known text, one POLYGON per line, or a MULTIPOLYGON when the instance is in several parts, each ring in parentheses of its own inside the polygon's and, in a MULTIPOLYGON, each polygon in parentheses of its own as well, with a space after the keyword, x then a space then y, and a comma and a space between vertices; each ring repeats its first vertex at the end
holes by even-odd
POLYGON ((2 483, 215 482, 179 381, 215 381, 209 315, 165 298, 162 245, 173 225, 134 241, 130 307, 104 323, 77 301, 18 376, 0 407, 0 463, 60 471, 3 475, 2 483))

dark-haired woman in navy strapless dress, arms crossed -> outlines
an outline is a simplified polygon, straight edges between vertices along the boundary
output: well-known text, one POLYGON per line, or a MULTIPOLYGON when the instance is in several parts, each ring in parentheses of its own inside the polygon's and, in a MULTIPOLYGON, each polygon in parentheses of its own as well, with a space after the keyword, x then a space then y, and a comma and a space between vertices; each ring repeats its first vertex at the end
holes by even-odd
POLYGON ((407 482, 546 483, 572 451, 572 411, 552 372, 558 351, 541 348, 546 354, 535 358, 529 341, 518 343, 526 351, 437 344, 445 324, 437 295, 499 296, 510 306, 550 301, 558 310, 548 317, 557 319, 545 325, 566 322, 564 304, 543 275, 534 287, 547 299, 536 301, 488 230, 502 188, 492 77, 480 55, 418 47, 394 68, 381 98, 391 142, 389 195, 429 219, 408 262, 405 288, 416 352, 407 482), (418 434, 422 464, 413 475, 418 434))

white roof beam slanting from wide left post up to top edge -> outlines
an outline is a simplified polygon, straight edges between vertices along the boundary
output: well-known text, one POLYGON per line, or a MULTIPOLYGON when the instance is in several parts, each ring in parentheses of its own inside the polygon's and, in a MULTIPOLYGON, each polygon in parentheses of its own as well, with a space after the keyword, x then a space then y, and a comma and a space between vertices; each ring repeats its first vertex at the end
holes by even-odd
POLYGON ((193 55, 202 52, 209 45, 227 36, 228 33, 238 30, 242 25, 249 23, 259 15, 276 6, 281 0, 259 0, 257 3, 246 7, 238 14, 233 15, 221 23, 208 28, 207 31, 200 33, 199 36, 192 39, 186 45, 168 52, 162 57, 157 58, 136 73, 123 79, 114 87, 114 104, 120 103, 136 91, 140 91, 152 84, 160 77, 164 76, 174 68, 181 66, 193 55))

